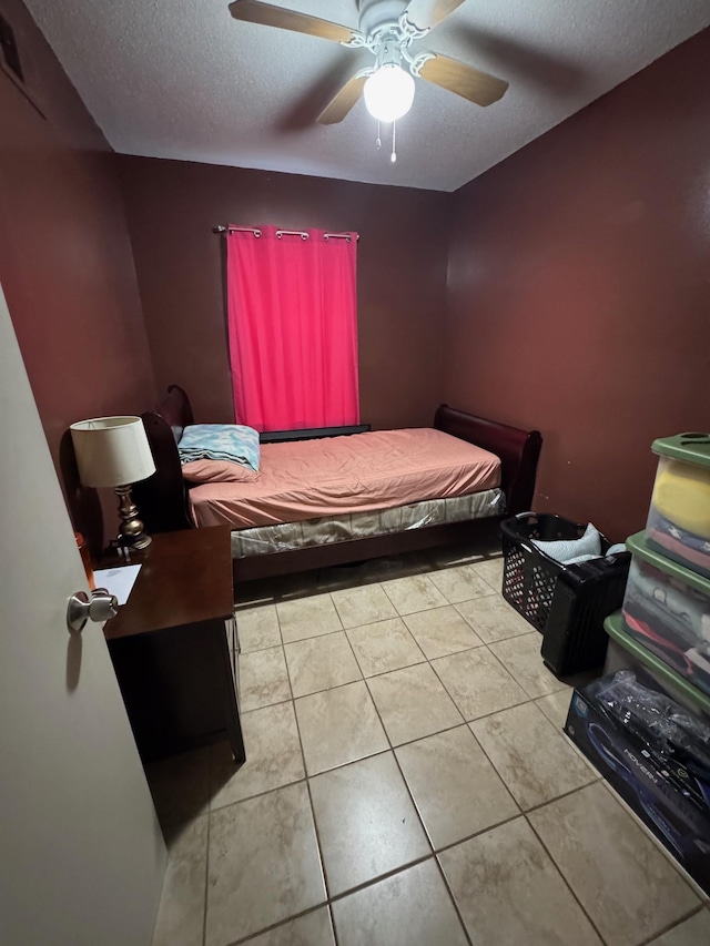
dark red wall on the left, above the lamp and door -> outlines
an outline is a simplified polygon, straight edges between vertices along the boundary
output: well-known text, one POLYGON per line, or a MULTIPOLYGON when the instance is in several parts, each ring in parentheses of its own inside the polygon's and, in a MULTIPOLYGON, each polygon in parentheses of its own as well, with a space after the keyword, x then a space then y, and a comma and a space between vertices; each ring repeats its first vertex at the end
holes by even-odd
POLYGON ((115 156, 24 8, 2 10, 45 118, 0 71, 0 282, 57 460, 69 424, 155 389, 115 156))

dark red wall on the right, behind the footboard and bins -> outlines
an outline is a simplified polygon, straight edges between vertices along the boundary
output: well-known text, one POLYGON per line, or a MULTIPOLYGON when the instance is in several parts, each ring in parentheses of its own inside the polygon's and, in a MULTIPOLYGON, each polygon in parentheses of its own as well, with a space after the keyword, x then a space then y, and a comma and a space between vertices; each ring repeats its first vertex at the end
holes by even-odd
POLYGON ((710 31, 454 195, 446 399, 545 437, 536 507, 643 527, 710 429, 710 31))

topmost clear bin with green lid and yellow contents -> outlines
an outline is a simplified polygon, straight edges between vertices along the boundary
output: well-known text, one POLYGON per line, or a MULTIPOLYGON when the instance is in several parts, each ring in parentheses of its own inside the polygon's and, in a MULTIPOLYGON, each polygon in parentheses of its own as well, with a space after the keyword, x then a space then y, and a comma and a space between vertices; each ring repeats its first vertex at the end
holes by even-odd
POLYGON ((650 548, 710 578, 710 434, 655 440, 659 455, 646 523, 650 548))

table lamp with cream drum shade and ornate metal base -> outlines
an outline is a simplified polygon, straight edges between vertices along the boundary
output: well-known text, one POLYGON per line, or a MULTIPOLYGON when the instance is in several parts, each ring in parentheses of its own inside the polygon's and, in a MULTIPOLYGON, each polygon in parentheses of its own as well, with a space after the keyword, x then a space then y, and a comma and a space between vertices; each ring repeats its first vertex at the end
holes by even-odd
POLYGON ((113 487, 119 497, 119 547, 144 549, 151 537, 131 498, 131 485, 155 472, 143 421, 140 417, 94 417, 69 429, 82 484, 113 487))

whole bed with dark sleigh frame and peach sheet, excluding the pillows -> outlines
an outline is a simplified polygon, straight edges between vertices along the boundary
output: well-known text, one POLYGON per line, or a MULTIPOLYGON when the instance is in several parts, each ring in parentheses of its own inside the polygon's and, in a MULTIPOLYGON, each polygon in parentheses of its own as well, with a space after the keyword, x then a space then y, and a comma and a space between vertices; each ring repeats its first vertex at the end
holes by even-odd
POLYGON ((194 423, 185 391, 171 385, 155 409, 142 417, 156 472, 135 484, 133 496, 148 531, 229 521, 235 582, 465 540, 475 535, 480 521, 530 509, 542 443, 537 430, 520 430, 440 405, 430 430, 385 435, 362 426, 262 435, 258 482, 194 486, 183 478, 178 449, 184 428, 194 423), (392 454, 394 487, 379 476, 378 450, 392 454), (474 471, 463 466, 467 450, 477 457, 474 471), (325 458, 326 467, 331 462, 345 468, 354 452, 364 452, 372 470, 367 480, 358 475, 353 490, 357 502, 342 488, 326 502, 323 484, 310 490, 303 476, 297 489, 291 479, 286 489, 273 472, 276 460, 283 465, 285 457, 306 471, 313 456, 320 457, 318 462, 325 458), (444 457, 443 468, 434 472, 428 470, 433 452, 444 457), (429 481, 422 487, 415 485, 409 469, 417 465, 429 472, 429 481), (272 477, 277 488, 271 488, 272 477))

